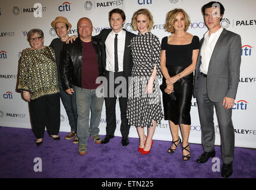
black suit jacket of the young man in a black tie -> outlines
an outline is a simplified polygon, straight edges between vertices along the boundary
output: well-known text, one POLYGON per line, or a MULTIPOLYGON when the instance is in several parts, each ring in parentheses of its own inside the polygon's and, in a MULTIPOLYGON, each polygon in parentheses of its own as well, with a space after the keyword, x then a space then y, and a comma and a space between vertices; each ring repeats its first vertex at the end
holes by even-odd
MULTIPOLYGON (((125 30, 125 29, 123 29, 125 30)), ((100 39, 102 42, 102 62, 103 62, 103 68, 106 70, 106 39, 109 36, 109 33, 112 31, 112 29, 103 29, 100 31, 100 34, 95 36, 96 38, 100 39)), ((132 37, 135 37, 136 34, 133 34, 127 30, 125 30, 125 49, 124 49, 124 77, 128 81, 128 77, 131 76, 131 69, 132 69, 132 56, 131 56, 131 39, 132 37)))

